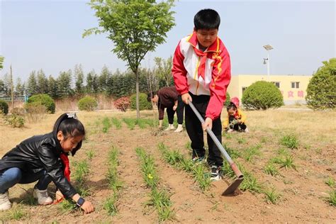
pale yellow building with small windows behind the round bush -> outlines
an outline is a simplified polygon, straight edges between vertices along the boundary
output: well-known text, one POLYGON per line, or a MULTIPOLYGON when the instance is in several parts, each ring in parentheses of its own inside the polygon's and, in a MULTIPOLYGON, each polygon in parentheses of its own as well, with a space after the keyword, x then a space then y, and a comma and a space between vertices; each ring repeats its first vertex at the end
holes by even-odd
POLYGON ((254 75, 239 74, 231 77, 228 93, 231 97, 237 96, 240 101, 245 89, 257 81, 273 82, 284 96, 285 105, 306 103, 307 86, 312 76, 305 75, 254 75))

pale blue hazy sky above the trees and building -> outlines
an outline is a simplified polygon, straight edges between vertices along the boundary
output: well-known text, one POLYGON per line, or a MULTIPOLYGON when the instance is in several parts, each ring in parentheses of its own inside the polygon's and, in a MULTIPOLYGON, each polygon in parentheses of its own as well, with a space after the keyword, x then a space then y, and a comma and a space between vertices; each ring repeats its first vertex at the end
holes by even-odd
MULTIPOLYGON (((85 29, 98 26, 94 10, 82 0, 0 0, 0 55, 5 57, 0 79, 13 68, 13 78, 26 81, 30 72, 47 76, 82 64, 85 73, 106 65, 124 72, 126 63, 111 52, 106 34, 82 38, 85 29)), ((181 38, 194 28, 201 9, 220 14, 218 36, 228 49, 231 73, 311 75, 322 62, 336 57, 335 1, 176 1, 176 26, 166 42, 146 55, 142 67, 152 68, 155 57, 173 55, 181 38)))

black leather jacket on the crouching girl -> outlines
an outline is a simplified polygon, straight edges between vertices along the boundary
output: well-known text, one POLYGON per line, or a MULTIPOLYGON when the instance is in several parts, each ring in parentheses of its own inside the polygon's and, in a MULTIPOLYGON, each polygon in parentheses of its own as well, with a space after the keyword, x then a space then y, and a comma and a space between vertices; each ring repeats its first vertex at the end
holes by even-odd
POLYGON ((18 167, 25 172, 45 169, 62 194, 72 198, 77 192, 63 174, 61 152, 60 142, 52 133, 35 135, 16 145, 0 159, 0 171, 11 167, 18 167))

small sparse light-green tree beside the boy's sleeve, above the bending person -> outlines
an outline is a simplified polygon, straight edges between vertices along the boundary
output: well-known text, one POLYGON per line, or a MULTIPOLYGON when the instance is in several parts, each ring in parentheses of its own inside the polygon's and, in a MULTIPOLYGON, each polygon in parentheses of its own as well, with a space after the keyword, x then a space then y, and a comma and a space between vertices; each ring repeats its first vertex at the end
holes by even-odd
POLYGON ((174 83, 172 78, 172 56, 168 57, 167 60, 164 60, 161 57, 155 57, 154 60, 156 64, 155 74, 159 80, 164 81, 164 86, 172 86, 172 83, 174 83))

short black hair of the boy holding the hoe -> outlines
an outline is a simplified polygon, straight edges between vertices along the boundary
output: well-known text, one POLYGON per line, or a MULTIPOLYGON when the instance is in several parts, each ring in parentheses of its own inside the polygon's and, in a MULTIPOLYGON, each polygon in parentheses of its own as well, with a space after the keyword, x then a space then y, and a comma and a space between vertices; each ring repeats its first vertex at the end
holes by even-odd
POLYGON ((195 30, 198 29, 218 29, 220 25, 220 16, 213 9, 202 9, 194 16, 195 30))

